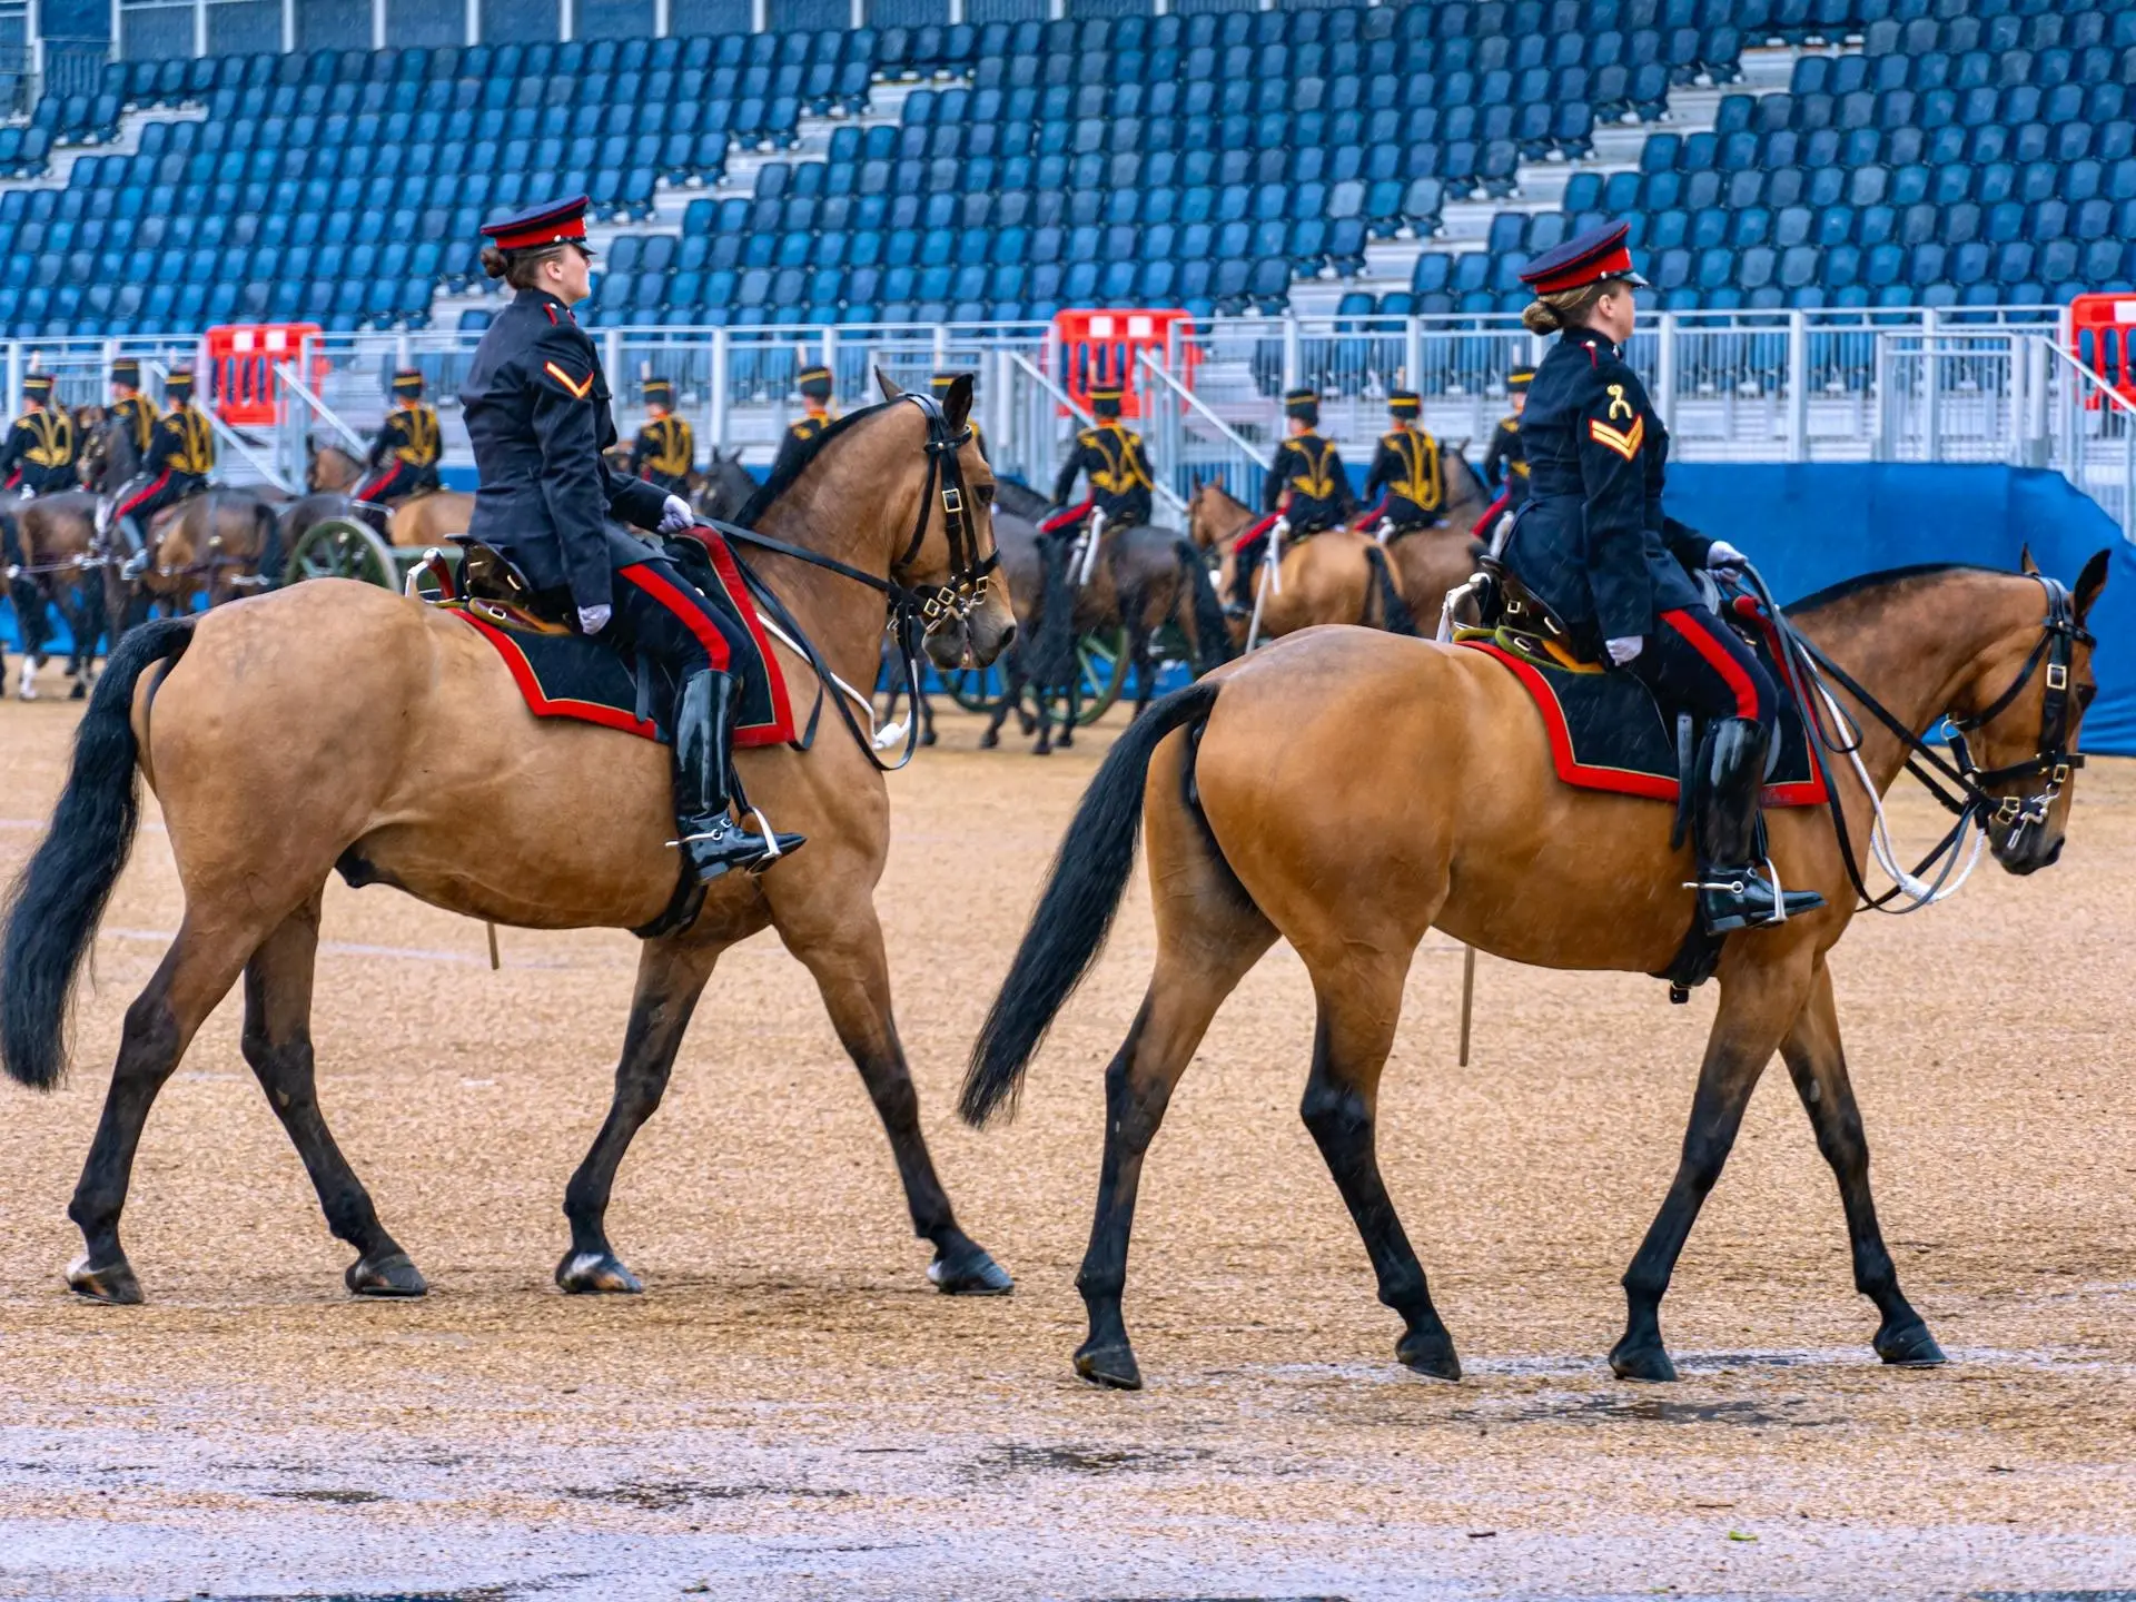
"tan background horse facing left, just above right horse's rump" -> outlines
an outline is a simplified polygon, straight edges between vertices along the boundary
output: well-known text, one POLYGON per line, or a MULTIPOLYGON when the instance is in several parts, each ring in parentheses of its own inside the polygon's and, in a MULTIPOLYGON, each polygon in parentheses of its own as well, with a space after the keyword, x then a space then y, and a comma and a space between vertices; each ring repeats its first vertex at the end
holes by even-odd
MULTIPOLYGON (((1226 596, 1235 594, 1232 575, 1239 562, 1232 545, 1256 521, 1260 521, 1260 513, 1235 500, 1213 481, 1196 485, 1188 500, 1188 534, 1200 549, 1222 553, 1218 590, 1226 596)), ((1258 639, 1262 641, 1294 634, 1314 624, 1363 624, 1395 634, 1416 632, 1416 611, 1403 596, 1401 572, 1369 534, 1331 528, 1303 540, 1288 540, 1277 575, 1273 581, 1256 575, 1258 639)), ((1232 615, 1232 639, 1245 645, 1252 626, 1250 615, 1232 615)))

